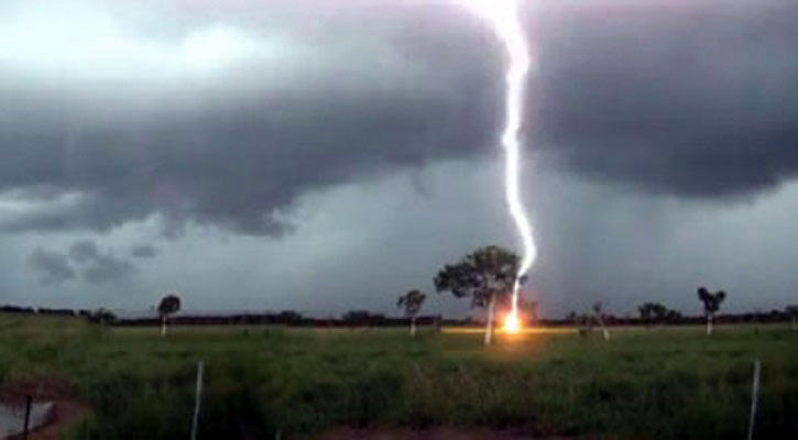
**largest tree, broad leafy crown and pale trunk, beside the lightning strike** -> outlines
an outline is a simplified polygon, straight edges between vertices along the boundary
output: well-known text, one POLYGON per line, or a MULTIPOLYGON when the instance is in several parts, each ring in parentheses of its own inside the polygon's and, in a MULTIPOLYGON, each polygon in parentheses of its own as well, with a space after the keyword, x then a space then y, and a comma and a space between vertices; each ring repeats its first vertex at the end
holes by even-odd
POLYGON ((485 345, 490 345, 496 300, 506 300, 512 294, 517 273, 517 255, 499 246, 485 246, 456 264, 447 264, 435 277, 435 288, 457 298, 470 297, 472 308, 488 309, 485 345))

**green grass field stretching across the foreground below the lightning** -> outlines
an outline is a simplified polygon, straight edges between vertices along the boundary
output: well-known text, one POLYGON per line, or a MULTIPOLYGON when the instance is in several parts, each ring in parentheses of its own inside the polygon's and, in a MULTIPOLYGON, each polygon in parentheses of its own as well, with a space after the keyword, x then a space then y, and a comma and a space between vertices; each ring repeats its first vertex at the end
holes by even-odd
POLYGON ((196 361, 200 439, 313 438, 332 427, 485 427, 528 436, 798 438, 798 331, 788 324, 499 336, 404 329, 100 328, 0 316, 0 380, 63 384, 91 410, 65 436, 186 439, 196 361))

